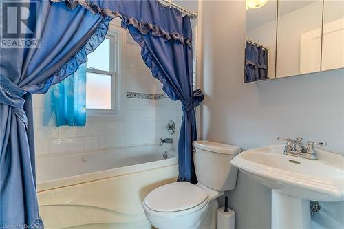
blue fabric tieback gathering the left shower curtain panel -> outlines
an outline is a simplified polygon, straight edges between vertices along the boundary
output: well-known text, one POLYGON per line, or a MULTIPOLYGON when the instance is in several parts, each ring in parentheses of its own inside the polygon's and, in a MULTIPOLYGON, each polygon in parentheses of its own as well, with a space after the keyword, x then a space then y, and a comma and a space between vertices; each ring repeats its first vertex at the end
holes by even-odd
POLYGON ((0 74, 0 103, 12 107, 14 114, 28 126, 28 118, 23 109, 26 91, 12 83, 6 76, 0 74))

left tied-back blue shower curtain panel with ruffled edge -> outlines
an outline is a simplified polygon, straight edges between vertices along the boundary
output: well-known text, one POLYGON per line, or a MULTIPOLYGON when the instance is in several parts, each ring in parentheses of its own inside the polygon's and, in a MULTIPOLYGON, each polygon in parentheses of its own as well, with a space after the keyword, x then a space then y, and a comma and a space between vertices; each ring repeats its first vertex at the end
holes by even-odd
MULTIPOLYGON (((36 199, 31 94, 45 93, 85 63, 87 54, 105 39, 112 18, 81 6, 68 10, 65 3, 11 4, 30 12, 25 23, 32 33, 17 34, 21 41, 30 44, 37 37, 41 42, 39 47, 8 43, 11 47, 0 49, 0 225, 43 228, 36 199)), ((2 6, 5 12, 6 5, 2 6)), ((16 14, 6 18, 1 22, 3 31, 18 19, 16 14)), ((1 35, 0 40, 3 43, 8 37, 1 35)))

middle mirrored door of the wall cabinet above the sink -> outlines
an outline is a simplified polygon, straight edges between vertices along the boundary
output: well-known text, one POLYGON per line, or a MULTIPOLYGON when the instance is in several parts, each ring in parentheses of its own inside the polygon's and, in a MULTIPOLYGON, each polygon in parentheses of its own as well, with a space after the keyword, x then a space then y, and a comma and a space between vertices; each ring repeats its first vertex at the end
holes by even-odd
POLYGON ((323 1, 279 1, 276 78, 319 72, 323 1))

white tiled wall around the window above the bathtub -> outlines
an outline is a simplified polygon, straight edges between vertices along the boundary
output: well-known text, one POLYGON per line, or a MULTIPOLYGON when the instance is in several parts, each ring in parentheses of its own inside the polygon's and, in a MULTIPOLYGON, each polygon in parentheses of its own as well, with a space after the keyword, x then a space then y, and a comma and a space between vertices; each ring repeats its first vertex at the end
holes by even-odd
MULTIPOLYGON (((34 131, 36 154, 68 153, 108 149, 135 144, 155 144, 170 138, 164 129, 169 120, 177 124, 172 136, 178 144, 180 102, 169 99, 149 100, 125 98, 127 91, 149 94, 162 93, 162 85, 151 76, 140 56, 140 47, 127 44, 122 71, 121 114, 115 119, 92 118, 85 127, 43 126, 44 96, 34 95, 34 131)), ((52 124, 54 124, 52 122, 52 124)))

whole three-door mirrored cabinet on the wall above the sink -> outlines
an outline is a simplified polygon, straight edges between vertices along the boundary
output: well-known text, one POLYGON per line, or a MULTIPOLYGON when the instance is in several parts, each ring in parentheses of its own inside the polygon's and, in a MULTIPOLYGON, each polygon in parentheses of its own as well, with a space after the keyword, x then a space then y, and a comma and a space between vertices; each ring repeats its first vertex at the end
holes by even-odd
POLYGON ((245 83, 344 67, 344 1, 246 0, 245 83))

